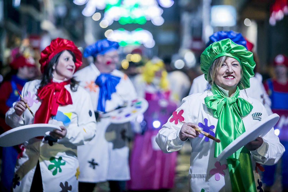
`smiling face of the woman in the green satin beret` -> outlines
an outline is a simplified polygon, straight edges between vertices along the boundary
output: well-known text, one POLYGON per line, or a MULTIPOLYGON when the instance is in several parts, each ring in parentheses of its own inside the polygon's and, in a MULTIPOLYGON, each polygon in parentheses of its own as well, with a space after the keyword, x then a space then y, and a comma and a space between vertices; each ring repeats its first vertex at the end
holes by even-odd
POLYGON ((232 58, 228 57, 223 64, 220 64, 215 76, 215 83, 225 90, 236 90, 236 86, 241 79, 241 65, 232 58))

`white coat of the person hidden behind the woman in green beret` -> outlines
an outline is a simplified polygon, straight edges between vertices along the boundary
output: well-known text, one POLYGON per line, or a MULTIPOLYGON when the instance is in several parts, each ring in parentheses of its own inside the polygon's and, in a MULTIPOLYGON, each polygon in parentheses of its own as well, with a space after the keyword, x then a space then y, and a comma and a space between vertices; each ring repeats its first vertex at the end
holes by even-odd
MULTIPOLYGON (((245 90, 240 90, 240 92, 246 91, 249 97, 260 101, 264 105, 265 109, 267 110, 268 115, 271 115, 272 114, 272 111, 270 108, 271 100, 265 91, 262 81, 259 81, 259 79, 261 78, 262 76, 259 73, 256 73, 255 77, 250 78, 250 87, 245 90)), ((208 90, 210 87, 207 83, 208 82, 206 81, 204 74, 196 77, 193 80, 193 83, 191 85, 189 95, 193 93, 202 93, 208 90)))

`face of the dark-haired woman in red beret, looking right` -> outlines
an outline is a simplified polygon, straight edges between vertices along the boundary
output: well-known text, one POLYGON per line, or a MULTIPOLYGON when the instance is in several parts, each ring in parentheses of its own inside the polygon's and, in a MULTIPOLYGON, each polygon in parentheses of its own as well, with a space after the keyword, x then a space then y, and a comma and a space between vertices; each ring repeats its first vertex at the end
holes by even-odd
POLYGON ((67 51, 63 51, 59 56, 55 70, 53 71, 53 77, 58 80, 71 79, 75 72, 75 63, 73 56, 67 51))

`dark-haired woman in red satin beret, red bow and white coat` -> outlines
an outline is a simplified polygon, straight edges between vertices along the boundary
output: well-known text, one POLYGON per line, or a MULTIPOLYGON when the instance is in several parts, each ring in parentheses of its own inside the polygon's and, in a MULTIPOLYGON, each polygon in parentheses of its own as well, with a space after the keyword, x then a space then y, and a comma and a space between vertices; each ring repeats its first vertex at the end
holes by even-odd
POLYGON ((12 128, 52 123, 61 131, 26 141, 16 163, 14 191, 78 191, 77 146, 91 140, 96 121, 89 94, 73 79, 82 54, 72 41, 57 38, 41 52, 41 80, 26 83, 6 113, 12 128), (35 117, 26 110, 27 103, 35 117))

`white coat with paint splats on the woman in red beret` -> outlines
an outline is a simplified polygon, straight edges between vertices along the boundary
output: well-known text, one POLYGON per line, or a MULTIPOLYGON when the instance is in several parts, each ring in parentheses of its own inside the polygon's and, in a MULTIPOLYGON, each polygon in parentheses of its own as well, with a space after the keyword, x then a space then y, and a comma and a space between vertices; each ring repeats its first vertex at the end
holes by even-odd
MULTIPOLYGON (((56 81, 56 80, 55 80, 56 81)), ((35 112, 40 107, 41 101, 37 100, 37 88, 40 80, 34 80, 26 83, 22 90, 23 97, 34 99, 29 102, 30 109, 35 112), (34 95, 35 94, 35 95, 34 95)), ((48 141, 38 138, 31 138, 23 145, 23 157, 18 159, 15 167, 15 177, 20 177, 19 185, 16 185, 14 191, 29 192, 32 184, 34 172, 37 162, 39 161, 41 177, 43 182, 43 191, 61 191, 65 188, 65 182, 68 182, 67 189, 78 191, 78 159, 77 146, 84 145, 91 140, 96 132, 96 121, 91 107, 91 99, 89 94, 82 88, 78 87, 76 92, 72 92, 70 85, 65 85, 65 88, 70 92, 73 104, 59 106, 57 113, 66 114, 69 118, 69 123, 65 125, 67 134, 64 138, 54 142, 52 146, 48 141), (54 161, 51 158, 56 158, 54 161), (62 160, 61 160, 62 157, 62 160), (62 165, 60 169, 48 167, 55 165, 53 162, 60 161, 62 165), (64 164, 65 163, 65 164, 64 164), (57 169, 56 174, 53 171, 57 169), (17 175, 17 176, 16 176, 17 175), (62 185, 61 185, 62 183, 62 185), (62 187, 61 187, 62 186, 62 187), (70 188, 71 186, 71 188, 70 188)), ((15 103, 14 103, 15 104, 15 103)), ((6 113, 6 123, 12 128, 32 124, 34 117, 28 110, 25 110, 21 116, 14 113, 14 108, 10 108, 6 113)), ((56 115, 57 116, 57 115, 56 115)), ((56 121, 56 120, 54 120, 56 121)), ((50 121, 51 122, 51 121, 50 121)), ((58 123, 62 123, 59 122, 58 123)))

